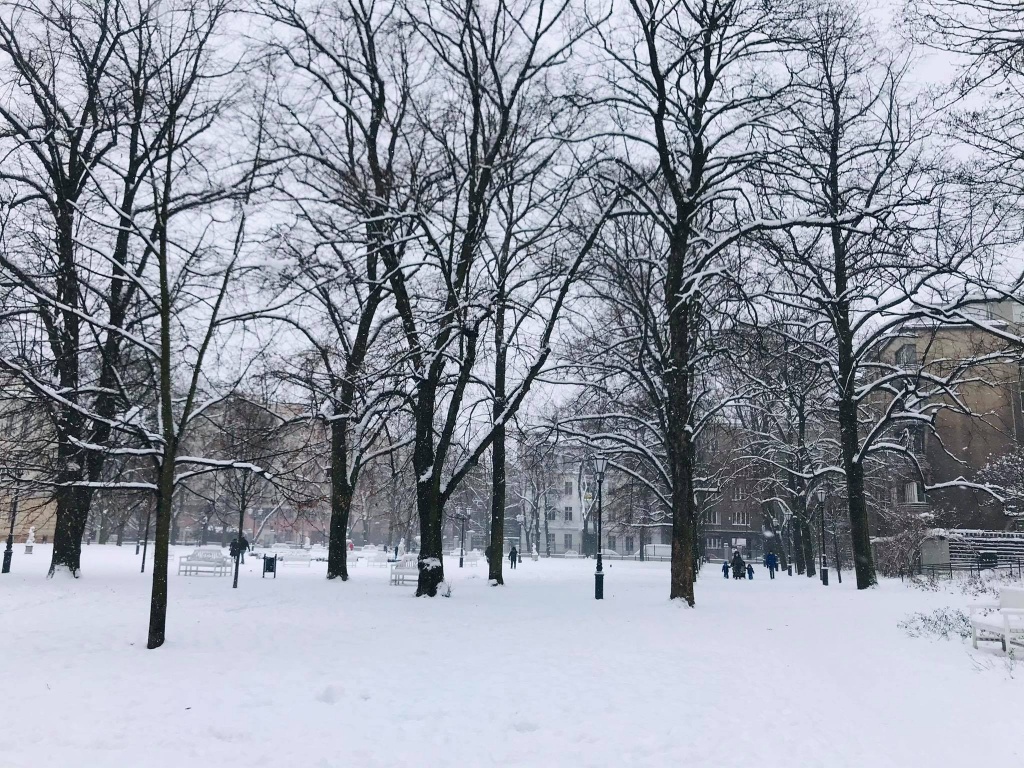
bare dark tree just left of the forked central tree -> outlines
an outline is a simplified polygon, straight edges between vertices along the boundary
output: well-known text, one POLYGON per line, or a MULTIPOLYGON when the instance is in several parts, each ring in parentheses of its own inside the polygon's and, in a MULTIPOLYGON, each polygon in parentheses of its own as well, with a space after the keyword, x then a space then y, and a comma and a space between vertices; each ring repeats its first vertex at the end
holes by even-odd
POLYGON ((282 238, 294 303, 276 316, 311 350, 311 365, 289 378, 310 391, 330 426, 328 579, 345 581, 359 472, 392 409, 393 359, 380 345, 394 317, 382 311, 388 271, 404 259, 413 212, 429 187, 420 178, 423 142, 411 127, 415 51, 400 2, 257 7, 270 23, 274 142, 288 163, 282 191, 296 217, 282 238))

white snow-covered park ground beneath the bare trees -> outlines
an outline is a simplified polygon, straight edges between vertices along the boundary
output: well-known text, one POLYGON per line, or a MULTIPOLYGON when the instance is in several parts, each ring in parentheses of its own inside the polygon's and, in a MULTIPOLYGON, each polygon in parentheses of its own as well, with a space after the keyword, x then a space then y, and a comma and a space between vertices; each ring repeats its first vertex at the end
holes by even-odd
MULTIPOLYGON (((911 638, 951 592, 856 593, 709 568, 698 608, 668 565, 526 560, 508 586, 445 560, 451 599, 383 568, 261 580, 171 575, 168 642, 145 650, 150 575, 88 547, 47 581, 47 547, 0 577, 0 765, 1024 765, 1024 659, 911 638)), ((179 550, 185 551, 185 550, 179 550)))

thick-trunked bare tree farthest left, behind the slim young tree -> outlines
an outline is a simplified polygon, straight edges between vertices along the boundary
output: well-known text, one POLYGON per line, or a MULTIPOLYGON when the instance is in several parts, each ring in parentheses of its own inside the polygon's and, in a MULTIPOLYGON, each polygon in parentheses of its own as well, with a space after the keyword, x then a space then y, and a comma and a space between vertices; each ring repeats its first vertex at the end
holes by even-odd
POLYGON ((140 268, 125 217, 145 205, 143 174, 156 161, 139 140, 154 66, 140 43, 152 14, 121 0, 29 0, 0 16, 0 274, 12 286, 0 318, 29 342, 0 349, 0 369, 45 401, 56 442, 51 575, 79 572, 103 447, 124 408, 118 380, 140 268), (115 157, 124 173, 112 178, 103 171, 115 157), (97 207, 109 228, 93 220, 97 207))

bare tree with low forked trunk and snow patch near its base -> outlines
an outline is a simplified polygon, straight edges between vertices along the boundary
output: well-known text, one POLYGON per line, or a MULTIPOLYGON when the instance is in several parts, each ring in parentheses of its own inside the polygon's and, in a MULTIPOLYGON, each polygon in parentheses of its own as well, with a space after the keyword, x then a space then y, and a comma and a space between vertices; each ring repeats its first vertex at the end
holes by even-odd
MULTIPOLYGON (((416 419, 413 466, 421 537, 417 594, 433 596, 444 574, 444 504, 544 370, 565 295, 593 242, 583 226, 572 245, 566 244, 543 321, 520 351, 515 383, 494 390, 499 404, 490 409, 489 424, 476 421, 467 391, 478 376, 481 332, 495 311, 495 284, 483 271, 495 208, 517 182, 560 157, 579 126, 556 73, 590 25, 575 19, 567 2, 482 6, 442 0, 410 4, 409 14, 425 49, 423 69, 432 75, 414 101, 437 195, 430 210, 416 213, 420 255, 398 263, 385 254, 385 260, 413 382, 409 400, 416 419), (467 432, 462 439, 460 431, 467 432), (457 445, 464 446, 461 456, 453 453, 457 445)), ((504 332, 500 336, 505 341, 499 346, 508 343, 504 332)), ((504 503, 493 510, 503 516, 504 503)), ((493 535, 495 529, 493 524, 493 535)))

